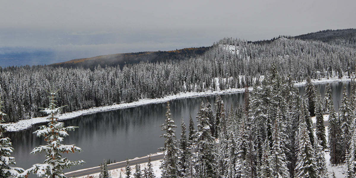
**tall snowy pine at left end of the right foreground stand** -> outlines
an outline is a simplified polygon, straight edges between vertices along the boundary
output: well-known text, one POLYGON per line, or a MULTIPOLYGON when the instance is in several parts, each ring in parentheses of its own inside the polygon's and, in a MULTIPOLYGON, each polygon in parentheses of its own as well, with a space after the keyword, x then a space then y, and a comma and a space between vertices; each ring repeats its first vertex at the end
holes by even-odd
POLYGON ((176 178, 179 177, 178 172, 178 156, 177 153, 180 151, 177 147, 176 140, 176 131, 174 128, 177 126, 174 124, 174 121, 171 118, 171 110, 169 106, 169 101, 167 102, 167 112, 166 112, 166 122, 160 127, 161 130, 166 131, 159 137, 164 137, 164 147, 159 148, 159 150, 164 152, 164 158, 161 160, 161 166, 159 167, 162 170, 162 178, 176 178))

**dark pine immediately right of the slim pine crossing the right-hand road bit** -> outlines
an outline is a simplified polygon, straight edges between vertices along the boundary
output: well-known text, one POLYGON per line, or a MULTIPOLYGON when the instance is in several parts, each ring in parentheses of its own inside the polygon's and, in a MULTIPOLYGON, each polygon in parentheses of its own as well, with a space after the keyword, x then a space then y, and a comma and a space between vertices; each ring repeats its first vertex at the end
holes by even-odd
POLYGON ((340 122, 337 119, 334 106, 331 107, 329 112, 329 120, 328 120, 328 145, 330 149, 330 163, 338 164, 340 163, 340 155, 342 152, 341 147, 341 126, 340 122))

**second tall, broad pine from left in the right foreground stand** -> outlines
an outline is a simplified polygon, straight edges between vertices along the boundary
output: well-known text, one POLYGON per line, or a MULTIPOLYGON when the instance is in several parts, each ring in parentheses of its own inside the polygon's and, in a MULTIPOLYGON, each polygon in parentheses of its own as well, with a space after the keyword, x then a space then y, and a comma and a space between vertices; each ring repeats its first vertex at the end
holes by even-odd
POLYGON ((199 112, 197 113, 198 130, 195 136, 196 143, 196 171, 198 177, 215 177, 216 176, 216 151, 215 139, 211 135, 209 118, 206 116, 206 107, 203 101, 201 102, 199 112))

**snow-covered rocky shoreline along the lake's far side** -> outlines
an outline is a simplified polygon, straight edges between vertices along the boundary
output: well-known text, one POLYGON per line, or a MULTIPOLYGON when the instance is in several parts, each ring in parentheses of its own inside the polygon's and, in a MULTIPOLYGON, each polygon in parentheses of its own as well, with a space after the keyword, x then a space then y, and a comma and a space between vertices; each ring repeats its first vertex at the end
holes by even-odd
MULTIPOLYGON (((313 83, 324 83, 324 82, 344 82, 348 81, 350 82, 351 79, 348 78, 348 76, 344 75, 341 79, 334 77, 330 79, 321 79, 317 80, 314 79, 312 80, 313 83)), ((300 83, 295 83, 296 86, 299 85, 305 85, 306 82, 300 82, 300 83)), ((252 90, 252 87, 248 88, 249 90, 252 90)), ((181 99, 181 98, 188 98, 188 97, 194 97, 194 96, 204 96, 204 95, 214 95, 214 94, 225 94, 225 93, 235 93, 235 92, 241 92, 245 91, 245 88, 232 88, 232 89, 227 89, 227 90, 219 90, 219 91, 204 91, 204 92, 181 92, 176 95, 168 95, 163 98, 155 98, 155 99, 140 99, 138 101, 134 101, 132 103, 122 103, 122 104, 114 104, 110 106, 101 106, 101 107, 94 107, 90 109, 85 109, 85 110, 79 110, 79 111, 73 111, 73 112, 67 112, 61 115, 58 115, 58 120, 66 120, 66 119, 72 119, 74 117, 78 117, 84 114, 92 114, 94 112, 100 112, 100 111, 106 111, 106 110, 111 110, 111 109, 121 109, 121 108, 129 108, 129 107, 135 107, 135 106, 140 106, 140 105, 145 105, 145 104, 152 104, 152 103, 164 103, 169 100, 173 99, 181 99)), ((4 124, 7 126, 7 131, 13 132, 13 131, 21 131, 21 130, 26 130, 32 127, 34 124, 39 124, 39 123, 44 123, 48 122, 46 117, 34 117, 31 119, 24 119, 17 121, 15 123, 9 123, 9 124, 4 124)))

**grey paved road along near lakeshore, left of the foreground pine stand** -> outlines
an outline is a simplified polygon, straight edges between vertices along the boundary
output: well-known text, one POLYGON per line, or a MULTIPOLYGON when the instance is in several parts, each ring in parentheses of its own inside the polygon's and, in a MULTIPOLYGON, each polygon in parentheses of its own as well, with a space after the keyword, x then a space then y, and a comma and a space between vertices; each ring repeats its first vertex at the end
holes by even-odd
MULTIPOLYGON (((151 161, 157 161, 157 160, 162 159, 163 157, 164 157, 163 154, 151 156, 151 161)), ((147 163, 147 162, 148 162, 148 157, 143 157, 143 158, 131 160, 130 161, 130 166, 133 166, 136 163, 137 164, 142 164, 142 163, 147 163)), ((112 164, 108 164, 108 170, 124 168, 125 166, 126 166, 126 161, 112 163, 112 164)), ((66 177, 68 177, 68 178, 70 178, 70 177, 81 177, 81 176, 87 176, 89 174, 100 173, 100 171, 101 171, 100 166, 98 166, 98 167, 93 167, 93 168, 89 168, 89 169, 82 169, 82 170, 78 170, 78 171, 65 173, 64 175, 66 177)))

